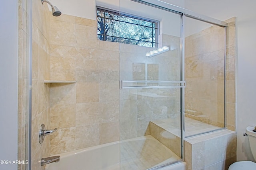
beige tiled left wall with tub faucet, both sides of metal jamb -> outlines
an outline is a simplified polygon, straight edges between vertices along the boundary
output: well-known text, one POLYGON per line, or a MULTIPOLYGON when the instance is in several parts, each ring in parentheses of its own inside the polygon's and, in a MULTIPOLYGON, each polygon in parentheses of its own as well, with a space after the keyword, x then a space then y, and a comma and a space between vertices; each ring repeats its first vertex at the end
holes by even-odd
MULTIPOLYGON (((18 160, 26 160, 26 116, 28 114, 28 47, 29 28, 26 0, 19 0, 19 57, 18 57, 18 160)), ((49 95, 48 85, 43 83, 49 78, 49 44, 47 18, 48 7, 40 1, 32 1, 32 170, 44 169, 39 164, 42 157, 49 156, 50 140, 43 144, 38 142, 40 125, 49 127, 49 95)), ((18 165, 24 170, 25 165, 18 165)))

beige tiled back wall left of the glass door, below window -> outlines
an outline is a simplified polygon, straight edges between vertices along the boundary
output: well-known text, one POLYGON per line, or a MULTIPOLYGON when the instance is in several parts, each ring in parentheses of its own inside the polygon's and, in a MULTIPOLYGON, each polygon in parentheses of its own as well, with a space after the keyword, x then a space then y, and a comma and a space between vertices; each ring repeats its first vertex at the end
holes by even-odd
POLYGON ((95 20, 50 16, 50 154, 119 140, 119 44, 95 20))

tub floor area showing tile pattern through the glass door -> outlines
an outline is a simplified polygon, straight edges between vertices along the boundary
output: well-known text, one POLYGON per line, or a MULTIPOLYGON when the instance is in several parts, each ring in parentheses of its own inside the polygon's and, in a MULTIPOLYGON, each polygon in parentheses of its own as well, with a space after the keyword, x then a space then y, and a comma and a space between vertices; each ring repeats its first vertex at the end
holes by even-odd
POLYGON ((120 151, 121 170, 146 170, 180 159, 151 135, 121 142, 120 151))

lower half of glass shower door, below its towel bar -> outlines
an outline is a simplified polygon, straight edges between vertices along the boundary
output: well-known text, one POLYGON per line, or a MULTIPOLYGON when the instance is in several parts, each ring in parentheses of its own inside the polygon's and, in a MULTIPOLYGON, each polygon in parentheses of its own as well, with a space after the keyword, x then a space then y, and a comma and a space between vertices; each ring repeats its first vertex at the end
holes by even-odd
POLYGON ((180 88, 121 90, 121 170, 146 170, 179 160, 180 133, 180 88))

